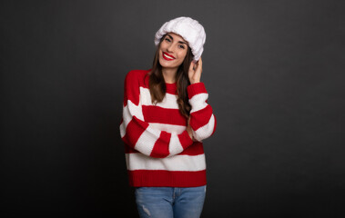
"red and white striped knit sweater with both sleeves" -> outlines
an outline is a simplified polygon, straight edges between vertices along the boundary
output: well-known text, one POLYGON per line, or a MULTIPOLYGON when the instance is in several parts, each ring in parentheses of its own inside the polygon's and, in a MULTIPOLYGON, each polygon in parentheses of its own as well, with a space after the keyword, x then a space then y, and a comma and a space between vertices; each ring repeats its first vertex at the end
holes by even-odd
POLYGON ((166 84, 161 103, 152 104, 145 70, 130 71, 125 80, 125 97, 120 134, 125 142, 127 171, 131 186, 196 187, 206 184, 205 154, 201 141, 216 129, 216 118, 207 104, 203 83, 188 85, 190 126, 179 113, 176 84, 166 84))

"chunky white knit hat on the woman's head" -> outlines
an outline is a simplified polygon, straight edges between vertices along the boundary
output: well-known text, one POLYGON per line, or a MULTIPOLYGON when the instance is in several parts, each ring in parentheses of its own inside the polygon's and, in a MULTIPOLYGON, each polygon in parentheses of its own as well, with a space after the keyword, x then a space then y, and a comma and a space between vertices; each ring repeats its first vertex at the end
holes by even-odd
POLYGON ((194 54, 194 60, 198 61, 204 51, 206 34, 204 27, 190 17, 181 16, 168 21, 157 31, 155 44, 158 45, 163 35, 174 33, 181 35, 187 42, 194 54))

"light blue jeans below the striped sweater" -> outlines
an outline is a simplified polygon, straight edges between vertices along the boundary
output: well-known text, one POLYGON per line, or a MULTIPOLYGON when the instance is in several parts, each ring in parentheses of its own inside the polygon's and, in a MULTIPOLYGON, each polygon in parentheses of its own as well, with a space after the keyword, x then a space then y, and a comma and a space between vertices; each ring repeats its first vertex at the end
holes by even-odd
POLYGON ((191 188, 136 188, 137 211, 141 218, 197 218, 204 205, 206 185, 191 188))

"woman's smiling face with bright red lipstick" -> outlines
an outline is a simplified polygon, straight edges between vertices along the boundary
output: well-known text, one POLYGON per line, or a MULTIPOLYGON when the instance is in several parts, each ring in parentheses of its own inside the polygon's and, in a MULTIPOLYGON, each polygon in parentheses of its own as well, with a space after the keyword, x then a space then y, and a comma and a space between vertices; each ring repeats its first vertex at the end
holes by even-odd
POLYGON ((163 68, 178 70, 178 66, 185 60, 188 43, 180 36, 168 33, 164 36, 159 47, 159 64, 163 68))

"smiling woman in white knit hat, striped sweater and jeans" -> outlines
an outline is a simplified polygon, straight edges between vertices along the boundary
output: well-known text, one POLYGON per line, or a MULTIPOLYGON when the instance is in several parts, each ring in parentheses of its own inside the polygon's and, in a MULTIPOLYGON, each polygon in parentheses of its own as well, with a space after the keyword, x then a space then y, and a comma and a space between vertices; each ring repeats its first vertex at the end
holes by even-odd
POLYGON ((140 217, 199 217, 206 193, 201 141, 216 119, 200 82, 205 31, 178 17, 157 32, 151 70, 127 74, 120 133, 140 217))

